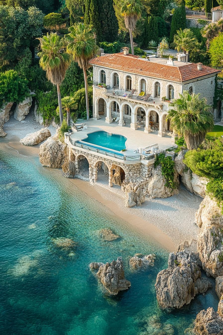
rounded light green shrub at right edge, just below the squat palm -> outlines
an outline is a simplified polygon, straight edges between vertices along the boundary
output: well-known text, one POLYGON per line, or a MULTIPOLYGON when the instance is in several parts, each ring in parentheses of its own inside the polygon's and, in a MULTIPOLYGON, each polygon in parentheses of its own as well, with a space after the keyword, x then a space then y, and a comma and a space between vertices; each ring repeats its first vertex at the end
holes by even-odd
POLYGON ((220 149, 190 150, 185 154, 184 163, 198 176, 223 177, 223 151, 220 149))

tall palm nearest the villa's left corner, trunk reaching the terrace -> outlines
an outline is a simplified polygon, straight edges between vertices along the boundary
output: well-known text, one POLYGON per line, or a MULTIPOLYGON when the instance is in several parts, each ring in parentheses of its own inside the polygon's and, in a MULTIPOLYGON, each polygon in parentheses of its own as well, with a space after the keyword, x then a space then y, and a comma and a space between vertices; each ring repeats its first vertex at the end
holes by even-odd
POLYGON ((90 67, 89 60, 92 59, 98 51, 95 41, 95 34, 91 25, 75 23, 69 28, 70 33, 67 38, 67 52, 73 55, 75 62, 84 72, 85 96, 87 120, 89 119, 89 102, 88 102, 88 80, 86 70, 90 67))

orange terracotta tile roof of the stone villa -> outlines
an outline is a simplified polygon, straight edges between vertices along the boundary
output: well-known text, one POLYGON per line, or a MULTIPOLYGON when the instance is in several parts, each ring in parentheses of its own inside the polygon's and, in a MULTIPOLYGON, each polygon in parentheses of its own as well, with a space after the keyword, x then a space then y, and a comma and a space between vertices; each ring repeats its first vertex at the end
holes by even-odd
POLYGON ((177 82, 183 82, 221 72, 205 65, 202 65, 202 69, 198 70, 197 64, 194 63, 173 66, 146 61, 138 57, 132 57, 131 54, 123 55, 123 53, 106 54, 92 59, 89 63, 124 72, 177 82))

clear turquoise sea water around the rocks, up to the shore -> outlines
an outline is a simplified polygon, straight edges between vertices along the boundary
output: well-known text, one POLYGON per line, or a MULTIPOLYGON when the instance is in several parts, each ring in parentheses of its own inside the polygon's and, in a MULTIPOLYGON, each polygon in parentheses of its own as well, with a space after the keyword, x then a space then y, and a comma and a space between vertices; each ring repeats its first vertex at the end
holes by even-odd
POLYGON ((168 252, 131 231, 95 199, 83 194, 61 171, 0 149, 0 333, 10 335, 153 335, 171 324, 183 335, 203 308, 217 310, 214 289, 180 311, 157 307, 154 283, 168 252), (11 184, 13 183, 13 184, 11 184), (98 230, 121 236, 103 242, 98 230), (78 243, 73 251, 55 248, 52 239, 78 243), (132 271, 135 253, 155 253, 154 267, 132 271), (131 288, 105 296, 88 268, 92 261, 122 256, 131 288), (147 321, 158 316, 160 329, 147 321))

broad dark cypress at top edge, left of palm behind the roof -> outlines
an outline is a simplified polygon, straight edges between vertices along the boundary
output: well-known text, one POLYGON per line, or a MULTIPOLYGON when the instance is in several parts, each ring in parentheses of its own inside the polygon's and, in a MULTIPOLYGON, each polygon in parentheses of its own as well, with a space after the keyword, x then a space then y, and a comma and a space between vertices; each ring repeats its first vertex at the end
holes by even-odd
POLYGON ((118 36, 118 20, 115 16, 113 0, 98 0, 98 2, 98 7, 102 9, 100 13, 102 41, 113 42, 118 36))

